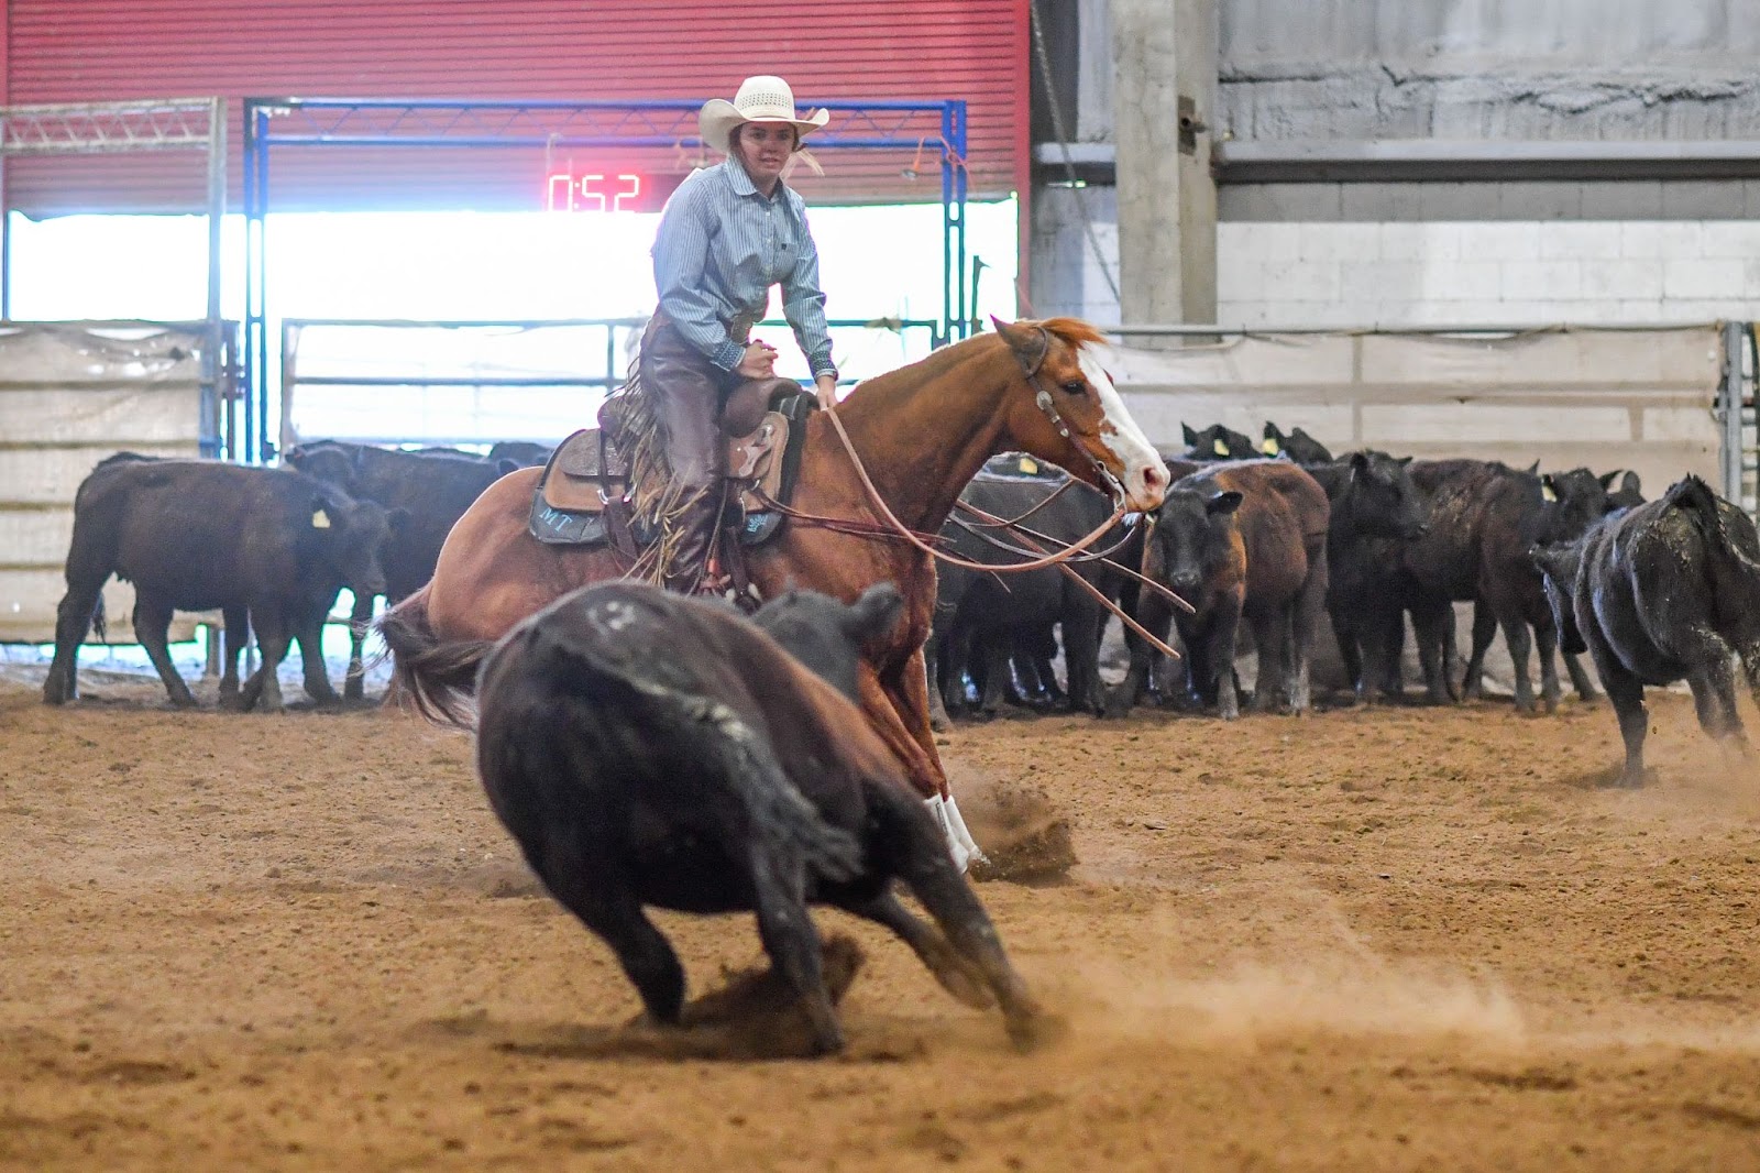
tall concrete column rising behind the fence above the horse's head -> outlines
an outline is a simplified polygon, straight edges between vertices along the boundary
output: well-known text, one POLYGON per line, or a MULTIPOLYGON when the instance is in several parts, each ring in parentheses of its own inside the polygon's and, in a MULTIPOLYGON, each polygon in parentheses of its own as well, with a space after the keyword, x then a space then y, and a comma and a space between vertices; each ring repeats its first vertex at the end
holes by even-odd
POLYGON ((1216 321, 1216 0, 1111 0, 1123 322, 1216 321))

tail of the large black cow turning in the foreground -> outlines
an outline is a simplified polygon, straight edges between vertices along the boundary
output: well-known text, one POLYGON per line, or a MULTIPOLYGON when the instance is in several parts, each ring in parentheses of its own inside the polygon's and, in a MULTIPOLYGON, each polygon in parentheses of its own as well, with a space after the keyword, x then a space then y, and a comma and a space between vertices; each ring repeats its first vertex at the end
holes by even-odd
MULTIPOLYGON (((861 872, 862 851, 847 831, 825 817, 783 771, 764 734, 727 705, 641 680, 604 664, 567 632, 535 631, 528 664, 556 692, 574 699, 583 719, 595 726, 618 720, 637 729, 644 741, 683 747, 699 768, 660 770, 655 784, 676 789, 674 801, 697 805, 702 787, 725 787, 744 808, 764 858, 799 859, 817 875, 850 881, 861 872)), ((535 734, 551 745, 577 747, 568 729, 535 734)), ((579 749, 576 752, 581 752, 579 749)))

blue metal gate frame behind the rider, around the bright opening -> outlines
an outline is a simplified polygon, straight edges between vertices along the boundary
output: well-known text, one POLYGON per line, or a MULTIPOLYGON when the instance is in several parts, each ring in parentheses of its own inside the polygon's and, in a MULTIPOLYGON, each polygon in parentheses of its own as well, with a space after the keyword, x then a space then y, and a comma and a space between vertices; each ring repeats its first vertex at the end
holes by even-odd
MULTIPOLYGON (((940 342, 964 338, 966 317, 966 104, 822 102, 832 125, 813 150, 922 150, 942 162, 940 342)), ((449 102, 436 99, 245 99, 245 435, 234 451, 271 460, 266 220, 269 153, 320 146, 466 148, 695 148, 702 102, 449 102)))

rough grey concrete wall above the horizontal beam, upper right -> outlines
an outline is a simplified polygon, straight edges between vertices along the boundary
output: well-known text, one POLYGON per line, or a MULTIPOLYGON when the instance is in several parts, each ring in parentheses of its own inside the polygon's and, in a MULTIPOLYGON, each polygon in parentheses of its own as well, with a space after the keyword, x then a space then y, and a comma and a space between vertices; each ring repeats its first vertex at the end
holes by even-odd
POLYGON ((1760 0, 1218 0, 1241 139, 1760 137, 1760 0))

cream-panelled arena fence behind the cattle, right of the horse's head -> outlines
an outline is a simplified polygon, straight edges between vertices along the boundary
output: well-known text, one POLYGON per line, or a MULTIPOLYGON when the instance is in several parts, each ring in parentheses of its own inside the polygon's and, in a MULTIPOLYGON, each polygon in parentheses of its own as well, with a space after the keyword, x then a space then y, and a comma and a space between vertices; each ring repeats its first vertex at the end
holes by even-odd
POLYGON ((1181 423, 1258 437, 1271 419, 1334 451, 1630 468, 1651 497, 1695 472, 1755 509, 1749 326, 1112 333, 1135 343, 1114 377, 1163 447, 1181 423))

